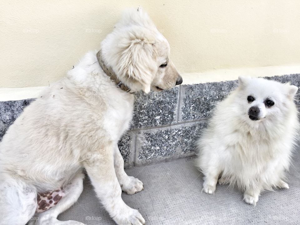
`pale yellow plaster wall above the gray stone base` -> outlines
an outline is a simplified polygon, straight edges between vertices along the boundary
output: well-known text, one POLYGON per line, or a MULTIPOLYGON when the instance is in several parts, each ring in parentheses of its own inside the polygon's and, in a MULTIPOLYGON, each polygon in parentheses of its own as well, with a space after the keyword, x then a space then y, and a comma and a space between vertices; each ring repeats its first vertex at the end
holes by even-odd
POLYGON ((2 0, 0 88, 63 77, 98 48, 124 8, 138 5, 169 40, 182 73, 300 64, 299 0, 2 0))

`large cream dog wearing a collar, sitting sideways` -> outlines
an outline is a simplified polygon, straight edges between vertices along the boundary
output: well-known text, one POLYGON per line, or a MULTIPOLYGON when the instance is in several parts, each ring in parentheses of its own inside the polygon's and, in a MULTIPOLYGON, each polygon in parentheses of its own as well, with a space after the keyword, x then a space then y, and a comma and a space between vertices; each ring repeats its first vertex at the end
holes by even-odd
POLYGON ((169 44, 148 15, 141 9, 125 12, 99 53, 87 53, 3 137, 0 224, 24 225, 37 213, 29 224, 82 225, 57 216, 81 194, 83 168, 117 224, 145 224, 121 198, 122 190, 134 194, 143 183, 124 172, 117 143, 132 118, 131 93, 181 83, 169 44))

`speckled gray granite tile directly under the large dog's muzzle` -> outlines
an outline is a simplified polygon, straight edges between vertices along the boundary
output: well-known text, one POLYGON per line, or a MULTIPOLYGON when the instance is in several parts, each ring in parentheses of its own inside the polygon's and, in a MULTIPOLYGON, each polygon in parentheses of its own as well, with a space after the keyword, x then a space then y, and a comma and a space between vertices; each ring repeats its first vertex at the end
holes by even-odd
POLYGON ((162 92, 136 93, 131 128, 149 128, 176 122, 178 87, 162 92))

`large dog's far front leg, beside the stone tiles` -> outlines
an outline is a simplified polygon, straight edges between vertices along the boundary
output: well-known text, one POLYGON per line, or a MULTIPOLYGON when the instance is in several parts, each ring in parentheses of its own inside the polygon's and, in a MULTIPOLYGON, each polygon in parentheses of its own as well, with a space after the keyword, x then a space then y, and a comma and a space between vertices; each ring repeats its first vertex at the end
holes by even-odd
POLYGON ((138 178, 128 176, 125 173, 124 160, 118 146, 115 147, 114 151, 114 166, 118 181, 123 192, 132 195, 144 190, 143 183, 138 178))

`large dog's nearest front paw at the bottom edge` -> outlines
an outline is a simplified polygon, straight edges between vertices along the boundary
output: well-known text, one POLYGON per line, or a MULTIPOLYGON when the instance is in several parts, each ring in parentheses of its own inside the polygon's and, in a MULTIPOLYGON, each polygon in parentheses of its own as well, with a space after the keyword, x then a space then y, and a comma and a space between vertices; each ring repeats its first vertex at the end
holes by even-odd
POLYGON ((136 209, 128 207, 128 210, 122 211, 122 215, 113 217, 118 225, 145 225, 145 219, 136 209))

